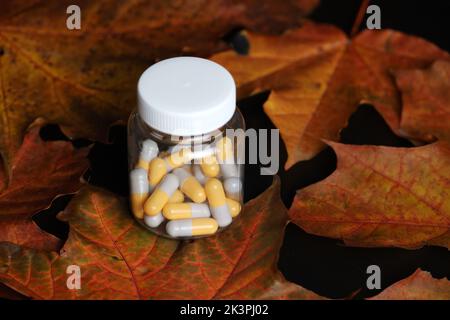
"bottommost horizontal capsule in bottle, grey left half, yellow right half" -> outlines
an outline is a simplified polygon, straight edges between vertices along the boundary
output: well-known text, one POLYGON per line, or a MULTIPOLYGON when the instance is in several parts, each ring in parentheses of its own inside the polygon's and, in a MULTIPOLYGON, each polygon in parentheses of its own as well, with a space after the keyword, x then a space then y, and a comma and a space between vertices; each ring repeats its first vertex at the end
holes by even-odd
POLYGON ((210 235, 217 229, 217 221, 211 218, 172 220, 166 225, 167 233, 174 238, 210 235))

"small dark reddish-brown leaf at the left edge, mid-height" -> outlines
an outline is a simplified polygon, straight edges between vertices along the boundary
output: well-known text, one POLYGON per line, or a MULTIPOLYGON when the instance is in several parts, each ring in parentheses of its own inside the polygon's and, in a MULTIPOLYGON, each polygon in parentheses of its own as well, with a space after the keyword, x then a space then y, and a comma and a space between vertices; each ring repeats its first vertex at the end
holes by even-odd
POLYGON ((76 192, 88 167, 87 148, 70 142, 42 141, 33 125, 12 162, 12 179, 0 169, 0 241, 43 250, 55 250, 60 241, 42 231, 31 217, 61 195, 76 192))

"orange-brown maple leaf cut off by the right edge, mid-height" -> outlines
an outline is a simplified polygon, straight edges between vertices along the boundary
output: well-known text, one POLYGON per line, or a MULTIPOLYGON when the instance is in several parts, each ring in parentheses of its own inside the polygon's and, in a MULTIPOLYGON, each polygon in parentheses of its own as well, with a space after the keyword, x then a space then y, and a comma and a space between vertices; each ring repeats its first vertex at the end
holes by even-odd
POLYGON ((450 248, 450 147, 329 142, 336 171, 297 191, 289 210, 305 231, 352 246, 450 248))

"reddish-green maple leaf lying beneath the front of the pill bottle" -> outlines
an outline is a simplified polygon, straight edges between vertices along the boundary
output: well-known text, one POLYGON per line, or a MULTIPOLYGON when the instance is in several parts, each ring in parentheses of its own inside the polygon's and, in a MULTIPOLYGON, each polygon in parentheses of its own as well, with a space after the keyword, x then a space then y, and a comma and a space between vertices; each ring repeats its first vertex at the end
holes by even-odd
POLYGON ((158 237, 125 201, 85 187, 60 216, 70 225, 58 255, 0 244, 0 280, 35 299, 318 299, 276 269, 287 222, 279 181, 245 205, 216 236, 193 242, 158 237), (81 289, 66 268, 81 268, 81 289))

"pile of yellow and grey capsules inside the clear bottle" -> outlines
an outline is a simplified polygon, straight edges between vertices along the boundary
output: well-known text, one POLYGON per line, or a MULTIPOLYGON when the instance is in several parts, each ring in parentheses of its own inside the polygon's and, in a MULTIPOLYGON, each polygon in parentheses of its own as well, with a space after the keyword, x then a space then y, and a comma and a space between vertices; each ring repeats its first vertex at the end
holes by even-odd
POLYGON ((242 181, 230 138, 219 139, 198 164, 191 148, 159 152, 151 139, 142 142, 130 172, 131 209, 150 228, 166 220, 174 238, 211 235, 241 211, 242 181), (218 161, 219 160, 219 161, 218 161))

